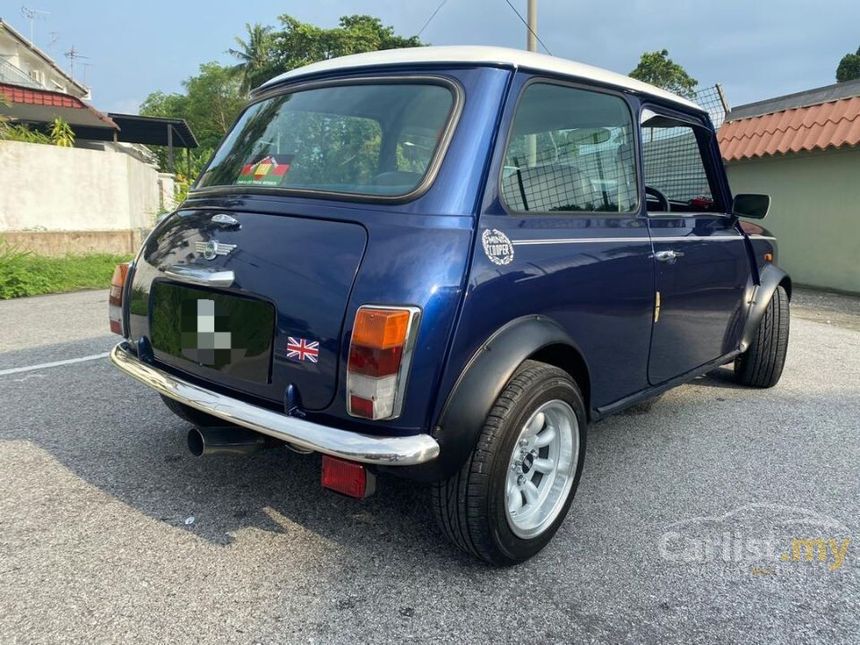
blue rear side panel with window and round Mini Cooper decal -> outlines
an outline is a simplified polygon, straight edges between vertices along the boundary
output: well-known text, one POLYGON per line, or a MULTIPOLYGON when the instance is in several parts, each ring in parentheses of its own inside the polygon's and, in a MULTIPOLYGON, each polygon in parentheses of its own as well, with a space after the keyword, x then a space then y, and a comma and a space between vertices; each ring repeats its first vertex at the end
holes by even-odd
POLYGON ((540 316, 576 344, 599 408, 648 385, 654 278, 636 113, 619 92, 527 78, 502 123, 451 355, 540 316))

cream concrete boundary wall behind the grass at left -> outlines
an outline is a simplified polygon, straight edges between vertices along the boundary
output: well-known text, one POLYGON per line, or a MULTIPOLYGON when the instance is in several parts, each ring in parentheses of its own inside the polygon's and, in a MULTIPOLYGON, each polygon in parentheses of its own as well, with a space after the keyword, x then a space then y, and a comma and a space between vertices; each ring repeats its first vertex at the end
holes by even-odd
POLYGON ((0 141, 0 169, 0 235, 36 252, 63 250, 47 231, 77 235, 65 252, 125 253, 130 232, 173 207, 172 178, 121 152, 0 141))

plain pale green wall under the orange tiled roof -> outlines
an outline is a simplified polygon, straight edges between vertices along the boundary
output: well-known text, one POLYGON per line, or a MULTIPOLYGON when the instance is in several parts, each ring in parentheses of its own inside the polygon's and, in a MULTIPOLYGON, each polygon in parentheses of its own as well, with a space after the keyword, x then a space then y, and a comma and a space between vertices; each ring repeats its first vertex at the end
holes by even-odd
POLYGON ((763 224, 792 279, 860 293, 860 148, 726 164, 733 193, 769 193, 763 224))

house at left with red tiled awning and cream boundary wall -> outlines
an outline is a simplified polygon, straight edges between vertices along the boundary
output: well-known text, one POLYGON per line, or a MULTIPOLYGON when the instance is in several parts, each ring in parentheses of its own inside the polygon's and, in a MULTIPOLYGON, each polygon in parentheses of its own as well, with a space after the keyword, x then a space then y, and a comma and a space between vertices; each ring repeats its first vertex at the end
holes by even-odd
POLYGON ((166 146, 172 170, 174 148, 197 146, 185 121, 104 114, 90 98, 88 87, 0 17, 4 244, 45 255, 128 255, 158 213, 174 206, 173 174, 159 172, 143 146, 166 146), (56 119, 68 124, 73 146, 16 140, 50 132, 56 119))

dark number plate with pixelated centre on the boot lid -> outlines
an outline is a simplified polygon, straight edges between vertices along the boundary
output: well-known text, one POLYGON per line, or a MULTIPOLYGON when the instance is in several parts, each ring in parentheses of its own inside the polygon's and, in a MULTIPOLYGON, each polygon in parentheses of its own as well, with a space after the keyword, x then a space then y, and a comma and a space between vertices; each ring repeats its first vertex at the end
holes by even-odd
POLYGON ((151 298, 152 346, 166 355, 159 359, 269 382, 275 326, 271 304, 168 282, 153 284, 151 298))

